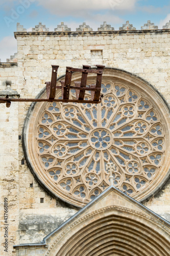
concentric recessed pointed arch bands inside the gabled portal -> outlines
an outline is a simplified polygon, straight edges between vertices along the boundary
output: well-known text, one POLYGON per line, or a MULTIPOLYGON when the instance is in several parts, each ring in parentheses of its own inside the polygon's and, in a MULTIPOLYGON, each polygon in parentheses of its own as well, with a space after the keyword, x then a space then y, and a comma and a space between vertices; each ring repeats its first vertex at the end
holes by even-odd
POLYGON ((56 256, 168 256, 169 249, 168 241, 145 223, 109 215, 83 227, 56 256))

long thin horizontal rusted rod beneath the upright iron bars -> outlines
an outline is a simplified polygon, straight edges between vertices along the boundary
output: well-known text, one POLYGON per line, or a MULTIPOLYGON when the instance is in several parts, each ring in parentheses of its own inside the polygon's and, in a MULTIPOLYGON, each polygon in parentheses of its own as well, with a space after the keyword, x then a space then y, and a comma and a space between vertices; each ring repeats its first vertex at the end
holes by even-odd
POLYGON ((79 102, 76 99, 18 99, 18 98, 0 98, 0 103, 6 103, 6 102, 11 102, 11 101, 25 101, 25 102, 42 102, 42 101, 47 101, 47 102, 77 102, 77 103, 101 103, 101 101, 95 101, 95 100, 80 100, 79 102))

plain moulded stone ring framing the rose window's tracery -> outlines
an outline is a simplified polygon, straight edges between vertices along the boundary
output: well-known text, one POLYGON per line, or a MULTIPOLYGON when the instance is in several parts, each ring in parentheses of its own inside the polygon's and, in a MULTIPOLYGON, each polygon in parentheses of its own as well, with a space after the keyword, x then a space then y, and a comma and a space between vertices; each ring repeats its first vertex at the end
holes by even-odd
MULTIPOLYGON (((92 78, 94 77, 93 74, 89 75, 89 78, 90 78, 90 76, 92 78)), ((57 83, 59 83, 59 81, 61 79, 63 80, 64 77, 65 77, 65 75, 60 76, 57 79, 57 83)), ((73 73, 72 81, 80 80, 80 77, 81 77, 80 73, 73 73)), ((115 68, 105 68, 105 70, 103 72, 103 78, 104 77, 112 77, 112 78, 114 78, 114 82, 122 81, 123 83, 126 83, 130 87, 133 86, 133 89, 134 90, 137 89, 137 92, 139 94, 141 93, 140 94, 141 96, 143 94, 145 99, 148 98, 148 100, 150 100, 151 99, 150 95, 155 95, 155 97, 152 98, 154 105, 158 106, 160 111, 161 111, 161 109, 163 109, 163 112, 165 113, 164 115, 162 115, 163 124, 165 124, 166 127, 170 127, 169 106, 168 106, 166 100, 164 99, 164 97, 149 82, 145 81, 144 79, 142 79, 139 76, 134 75, 130 72, 123 71, 120 69, 115 69, 115 68), (155 99, 156 99, 156 101, 155 101, 155 99)), ((108 79, 108 81, 109 81, 109 79, 108 79)), ((45 94, 46 94, 46 90, 44 88, 37 95, 37 98, 45 98, 46 97, 45 94)), ((35 120, 35 118, 37 116, 37 111, 40 110, 43 105, 44 105, 44 102, 34 102, 31 104, 28 114, 26 116, 24 126, 23 126, 22 145, 23 145, 23 151, 25 153, 27 163, 28 163, 34 177, 41 184, 41 186, 48 193, 50 193, 50 195, 52 195, 56 199, 64 201, 66 204, 68 204, 71 207, 82 208, 85 205, 85 203, 81 202, 81 200, 75 199, 75 201, 73 202, 71 197, 69 198, 68 196, 63 199, 63 197, 61 197, 58 193, 56 193, 54 191, 55 188, 54 188, 53 184, 46 185, 45 180, 38 175, 37 169, 35 168, 35 166, 32 163, 32 156, 30 154, 30 147, 29 147, 29 139, 30 139, 29 127, 30 127, 30 123, 35 120)), ((167 141, 167 145, 166 145, 166 151, 167 151, 167 148, 169 147, 169 143, 170 143, 170 129, 169 130, 166 129, 165 134, 166 134, 166 138, 169 138, 169 140, 167 141)), ((35 148, 34 148, 34 150, 35 150, 35 148)), ((148 193, 146 196, 144 196, 144 197, 140 196, 140 198, 137 198, 137 199, 134 197, 134 199, 138 200, 141 203, 144 203, 145 201, 148 201, 153 195, 155 195, 162 188, 162 186, 165 184, 165 182, 167 181, 167 179, 169 178, 169 175, 170 175, 170 169, 169 169, 170 163, 167 164, 167 162, 170 162, 170 161, 168 161, 169 158, 170 158, 170 154, 166 157, 166 162, 164 163, 165 167, 163 170, 163 174, 164 174, 163 178, 159 179, 159 181, 158 181, 158 179, 156 180, 156 184, 154 183, 154 186, 152 185, 152 189, 151 189, 150 193, 148 193)), ((147 189, 150 190, 150 186, 147 187, 147 189)))

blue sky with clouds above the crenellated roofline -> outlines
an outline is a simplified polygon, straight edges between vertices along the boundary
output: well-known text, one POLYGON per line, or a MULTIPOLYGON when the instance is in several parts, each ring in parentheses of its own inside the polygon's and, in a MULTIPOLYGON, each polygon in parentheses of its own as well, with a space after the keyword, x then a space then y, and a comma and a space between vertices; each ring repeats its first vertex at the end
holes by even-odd
POLYGON ((151 20, 162 28, 170 20, 170 2, 167 0, 0 0, 0 58, 13 55, 16 40, 13 32, 20 23, 27 31, 42 22, 50 31, 64 22, 76 31, 86 22, 94 31, 106 20, 118 30, 129 20, 136 29, 151 20))

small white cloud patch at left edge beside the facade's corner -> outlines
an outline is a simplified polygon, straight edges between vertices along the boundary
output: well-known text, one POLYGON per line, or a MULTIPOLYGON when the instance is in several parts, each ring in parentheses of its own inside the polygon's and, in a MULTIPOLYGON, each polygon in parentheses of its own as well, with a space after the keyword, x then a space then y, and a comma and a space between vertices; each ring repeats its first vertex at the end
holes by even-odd
POLYGON ((0 59, 6 62, 7 58, 17 52, 17 42, 14 36, 6 36, 0 41, 0 59))

